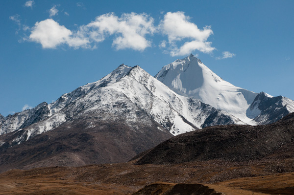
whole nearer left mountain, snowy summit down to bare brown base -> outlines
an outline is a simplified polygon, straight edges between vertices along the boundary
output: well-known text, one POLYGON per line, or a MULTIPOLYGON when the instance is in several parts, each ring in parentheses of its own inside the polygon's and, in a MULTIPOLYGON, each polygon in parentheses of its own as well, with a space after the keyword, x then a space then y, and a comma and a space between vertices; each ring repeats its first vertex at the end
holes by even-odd
POLYGON ((0 172, 126 162, 172 135, 242 123, 225 111, 176 94, 141 67, 126 65, 3 122, 0 172))

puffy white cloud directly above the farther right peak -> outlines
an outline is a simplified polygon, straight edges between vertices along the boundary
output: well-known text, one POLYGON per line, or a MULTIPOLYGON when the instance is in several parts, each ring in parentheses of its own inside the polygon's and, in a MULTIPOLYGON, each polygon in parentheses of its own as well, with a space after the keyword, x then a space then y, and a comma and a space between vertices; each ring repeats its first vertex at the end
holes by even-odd
POLYGON ((211 27, 205 26, 200 30, 195 23, 189 21, 190 17, 185 16, 184 12, 168 12, 160 22, 160 31, 168 36, 170 54, 181 56, 195 50, 203 53, 211 53, 215 50, 211 42, 207 42, 208 37, 213 34, 211 27), (177 42, 184 40, 188 42, 178 47, 177 42))

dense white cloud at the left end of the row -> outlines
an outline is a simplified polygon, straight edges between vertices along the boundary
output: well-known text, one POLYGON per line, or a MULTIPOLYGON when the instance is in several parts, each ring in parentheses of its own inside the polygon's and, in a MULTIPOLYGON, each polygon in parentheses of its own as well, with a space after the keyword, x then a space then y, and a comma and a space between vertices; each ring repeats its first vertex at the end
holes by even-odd
POLYGON ((55 48, 60 44, 68 44, 74 48, 87 47, 89 41, 78 37, 65 26, 52 19, 36 22, 32 28, 29 40, 41 43, 43 48, 55 48))

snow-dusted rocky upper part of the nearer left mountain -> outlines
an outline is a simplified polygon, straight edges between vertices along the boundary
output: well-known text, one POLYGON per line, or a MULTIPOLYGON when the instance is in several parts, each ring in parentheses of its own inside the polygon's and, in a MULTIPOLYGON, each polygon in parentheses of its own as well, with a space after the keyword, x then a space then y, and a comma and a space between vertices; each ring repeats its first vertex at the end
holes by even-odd
POLYGON ((131 127, 144 118, 143 123, 155 121, 158 130, 169 130, 173 135, 211 125, 243 124, 225 111, 178 95, 140 66, 120 65, 99 81, 78 87, 49 105, 42 103, 7 116, 0 134, 21 130, 23 133, 11 141, 19 144, 85 115, 91 116, 89 124, 98 120, 92 116, 114 122, 123 116, 131 127))

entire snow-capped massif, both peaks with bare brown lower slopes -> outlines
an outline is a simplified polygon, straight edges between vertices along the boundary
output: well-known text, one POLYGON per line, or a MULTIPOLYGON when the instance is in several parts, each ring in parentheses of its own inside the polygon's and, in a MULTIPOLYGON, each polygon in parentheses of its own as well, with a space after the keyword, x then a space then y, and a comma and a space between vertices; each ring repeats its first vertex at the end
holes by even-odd
POLYGON ((0 115, 0 172, 125 162, 172 135, 268 124, 292 110, 294 101, 235 87, 193 55, 155 78, 140 66, 120 65, 51 104, 0 115))

